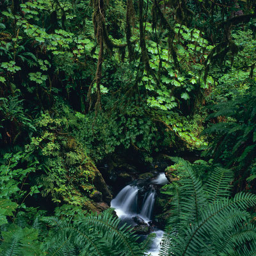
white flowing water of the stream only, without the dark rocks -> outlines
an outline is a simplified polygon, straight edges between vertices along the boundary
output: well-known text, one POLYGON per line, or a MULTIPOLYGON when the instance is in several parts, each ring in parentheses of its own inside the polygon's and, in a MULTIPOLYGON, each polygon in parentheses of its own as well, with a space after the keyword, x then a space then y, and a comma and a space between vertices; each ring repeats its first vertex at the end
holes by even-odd
MULTIPOLYGON (((157 177, 157 182, 163 182, 163 175, 164 173, 161 173, 159 177, 157 177), (161 180, 159 181, 159 177, 161 175, 161 180)), ((165 177, 165 175, 164 175, 165 177)), ((165 177, 166 179, 166 177, 165 177)), ((154 181, 156 181, 154 180, 154 181)), ((166 179, 167 180, 167 179, 166 179)), ((165 182, 165 181, 164 181, 165 182)), ((162 183, 156 183, 156 184, 162 184, 162 183)), ((133 221, 132 217, 134 216, 140 216, 145 223, 148 223, 150 220, 152 220, 152 212, 154 209, 154 202, 156 198, 156 192, 150 191, 148 193, 145 193, 143 198, 143 204, 141 207, 140 214, 137 213, 137 206, 138 206, 138 187, 137 186, 126 186, 123 188, 118 195, 111 201, 111 207, 115 208, 117 216, 121 220, 127 221, 133 221)), ((134 223, 134 225, 136 225, 134 223)), ((147 255, 150 256, 157 256, 160 250, 160 242, 163 237, 163 230, 154 230, 154 233, 156 234, 156 237, 152 241, 152 246, 150 250, 148 251, 147 255)))

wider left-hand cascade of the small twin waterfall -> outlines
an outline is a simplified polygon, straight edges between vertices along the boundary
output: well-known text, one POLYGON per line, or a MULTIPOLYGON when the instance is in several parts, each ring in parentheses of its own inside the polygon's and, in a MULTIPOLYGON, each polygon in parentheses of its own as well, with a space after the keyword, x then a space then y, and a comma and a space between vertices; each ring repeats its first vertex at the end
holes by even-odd
POLYGON ((138 187, 126 186, 111 201, 111 207, 115 208, 118 217, 137 211, 138 187))

